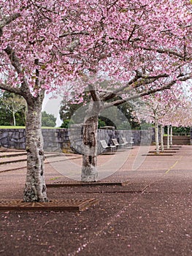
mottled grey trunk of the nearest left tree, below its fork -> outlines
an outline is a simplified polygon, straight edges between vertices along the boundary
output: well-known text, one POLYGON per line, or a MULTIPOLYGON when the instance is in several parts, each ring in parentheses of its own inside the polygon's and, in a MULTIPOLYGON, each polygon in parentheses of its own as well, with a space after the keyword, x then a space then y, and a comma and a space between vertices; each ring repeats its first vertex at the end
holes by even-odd
POLYGON ((23 200, 46 202, 44 151, 42 138, 42 97, 28 103, 26 116, 27 175, 23 200))

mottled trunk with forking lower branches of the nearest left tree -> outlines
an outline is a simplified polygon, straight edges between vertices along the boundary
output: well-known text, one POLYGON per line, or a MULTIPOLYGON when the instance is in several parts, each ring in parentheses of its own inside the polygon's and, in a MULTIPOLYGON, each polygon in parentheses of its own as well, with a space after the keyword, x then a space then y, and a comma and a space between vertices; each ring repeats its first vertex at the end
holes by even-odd
POLYGON ((44 151, 42 138, 42 101, 45 96, 45 89, 42 89, 43 81, 39 80, 39 59, 34 60, 36 65, 36 78, 33 89, 30 89, 28 80, 23 72, 20 59, 15 50, 8 45, 5 53, 14 67, 15 72, 20 75, 22 82, 20 86, 1 84, 1 89, 13 92, 26 99, 26 151, 27 151, 27 175, 24 188, 23 200, 26 202, 45 202, 47 193, 44 178, 44 151))

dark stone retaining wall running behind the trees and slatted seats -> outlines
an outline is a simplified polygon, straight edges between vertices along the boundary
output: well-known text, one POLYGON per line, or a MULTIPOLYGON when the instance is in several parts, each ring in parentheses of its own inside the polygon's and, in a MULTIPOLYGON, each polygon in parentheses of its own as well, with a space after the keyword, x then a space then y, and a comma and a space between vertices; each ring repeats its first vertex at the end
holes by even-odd
MULTIPOLYGON (((82 129, 42 129, 45 151, 68 151, 74 149, 81 153, 82 148, 82 129)), ((5 148, 25 149, 25 129, 0 129, 0 146, 5 148)), ((134 140, 134 145, 146 145, 154 142, 154 130, 112 130, 99 129, 98 141, 106 140, 111 143, 112 138, 125 137, 128 142, 134 140)), ((102 151, 99 143, 99 151, 102 151)))

